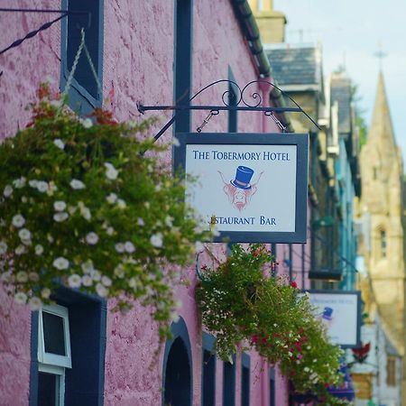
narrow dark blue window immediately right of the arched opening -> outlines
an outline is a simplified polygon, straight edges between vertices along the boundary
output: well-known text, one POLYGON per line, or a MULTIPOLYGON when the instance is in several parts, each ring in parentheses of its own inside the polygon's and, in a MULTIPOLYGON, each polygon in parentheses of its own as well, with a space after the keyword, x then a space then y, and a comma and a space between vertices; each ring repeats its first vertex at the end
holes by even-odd
POLYGON ((216 338, 203 332, 202 335, 202 377, 201 404, 215 406, 216 402, 216 338))

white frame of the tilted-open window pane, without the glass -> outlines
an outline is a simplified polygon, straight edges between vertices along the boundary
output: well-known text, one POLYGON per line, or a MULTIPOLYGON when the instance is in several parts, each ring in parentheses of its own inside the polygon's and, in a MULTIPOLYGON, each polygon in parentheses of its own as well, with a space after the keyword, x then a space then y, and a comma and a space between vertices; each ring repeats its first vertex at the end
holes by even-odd
POLYGON ((44 305, 39 311, 38 319, 38 361, 42 364, 51 364, 65 368, 72 367, 72 357, 70 354, 70 334, 69 334, 69 310, 59 305, 44 305), (43 336, 42 312, 51 313, 63 319, 63 331, 65 341, 65 354, 56 355, 45 351, 45 341, 43 336))

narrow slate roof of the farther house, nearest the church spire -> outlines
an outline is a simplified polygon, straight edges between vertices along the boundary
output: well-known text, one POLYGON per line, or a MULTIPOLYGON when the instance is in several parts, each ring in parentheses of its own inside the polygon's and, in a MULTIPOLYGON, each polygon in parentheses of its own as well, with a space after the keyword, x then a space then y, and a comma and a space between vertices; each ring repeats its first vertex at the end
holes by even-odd
POLYGON ((331 78, 331 103, 338 103, 338 133, 351 133, 351 80, 344 76, 331 78))

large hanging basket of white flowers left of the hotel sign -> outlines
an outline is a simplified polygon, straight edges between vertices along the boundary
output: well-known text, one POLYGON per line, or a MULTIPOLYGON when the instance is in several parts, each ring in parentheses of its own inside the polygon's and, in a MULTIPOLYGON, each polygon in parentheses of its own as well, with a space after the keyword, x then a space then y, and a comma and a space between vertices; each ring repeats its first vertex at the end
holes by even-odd
POLYGON ((184 177, 158 160, 168 146, 145 136, 152 120, 81 119, 47 85, 38 97, 30 125, 0 145, 2 281, 32 309, 60 284, 118 309, 139 300, 165 337, 176 269, 209 237, 183 203, 184 177))

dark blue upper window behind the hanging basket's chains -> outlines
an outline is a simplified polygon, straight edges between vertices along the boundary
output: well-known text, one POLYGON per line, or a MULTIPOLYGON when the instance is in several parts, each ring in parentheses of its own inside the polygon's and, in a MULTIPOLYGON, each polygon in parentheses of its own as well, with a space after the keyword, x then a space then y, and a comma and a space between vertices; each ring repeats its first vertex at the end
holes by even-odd
MULTIPOLYGON (((60 88, 64 90, 73 60, 81 40, 80 28, 85 29, 85 42, 90 59, 97 73, 98 82, 103 82, 103 30, 104 0, 62 0, 62 8, 83 11, 89 14, 69 14, 62 20, 60 88)), ((97 85, 88 58, 82 51, 69 89, 69 106, 78 114, 86 115, 101 106, 103 95, 97 85)))

